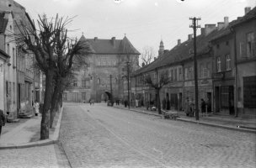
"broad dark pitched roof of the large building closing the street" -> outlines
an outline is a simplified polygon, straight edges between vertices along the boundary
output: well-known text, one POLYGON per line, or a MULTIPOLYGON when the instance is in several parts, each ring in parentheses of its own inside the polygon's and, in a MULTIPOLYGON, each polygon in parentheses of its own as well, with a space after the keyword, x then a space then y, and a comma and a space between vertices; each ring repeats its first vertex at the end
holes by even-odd
POLYGON ((86 39, 83 35, 79 40, 86 40, 91 45, 95 54, 132 54, 140 55, 140 52, 131 45, 129 39, 86 39))

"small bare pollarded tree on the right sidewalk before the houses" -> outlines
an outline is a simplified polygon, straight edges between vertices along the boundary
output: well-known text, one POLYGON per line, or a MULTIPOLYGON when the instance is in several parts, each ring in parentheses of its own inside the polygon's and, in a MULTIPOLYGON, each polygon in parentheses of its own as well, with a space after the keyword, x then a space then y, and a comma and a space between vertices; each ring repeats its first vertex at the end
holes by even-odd
POLYGON ((153 76, 151 76, 150 74, 147 74, 146 76, 144 76, 144 82, 149 87, 153 87, 155 89, 157 94, 158 113, 161 114, 162 112, 161 112, 161 102, 160 102, 160 90, 162 89, 163 86, 167 85, 171 81, 170 81, 170 78, 168 77, 167 72, 163 72, 159 74, 159 72, 156 71, 156 73, 157 73, 157 77, 155 79, 153 79, 153 76))

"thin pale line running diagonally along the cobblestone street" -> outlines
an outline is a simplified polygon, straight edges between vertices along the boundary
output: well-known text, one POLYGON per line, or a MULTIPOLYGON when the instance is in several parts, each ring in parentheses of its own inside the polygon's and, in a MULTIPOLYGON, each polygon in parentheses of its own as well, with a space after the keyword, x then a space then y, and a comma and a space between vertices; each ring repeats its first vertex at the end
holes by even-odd
MULTIPOLYGON (((82 107, 80 107, 80 108, 82 108, 82 107)), ((85 109, 82 108, 82 110, 87 113, 87 111, 85 109)), ((99 120, 93 118, 93 116, 90 113, 88 113, 88 116, 90 118, 92 118, 96 123, 99 123, 104 129, 109 131, 109 133, 113 134, 116 139, 119 139, 123 144, 126 144, 127 146, 129 146, 132 150, 135 150, 136 152, 138 152, 139 154, 143 155, 144 157, 147 157, 150 160, 153 160, 153 161, 157 162, 159 165, 161 165, 163 167, 167 167, 167 165, 164 165, 160 160, 157 160, 153 156, 150 156, 151 154, 149 154, 149 153, 147 153, 145 151, 142 151, 142 150, 137 150, 137 148, 135 146, 133 146, 132 144, 129 144, 129 142, 127 142, 125 139, 121 138, 119 135, 115 134, 111 129, 107 128, 103 123, 100 123, 99 120)), ((163 158, 163 155, 162 155, 162 158, 163 158)))

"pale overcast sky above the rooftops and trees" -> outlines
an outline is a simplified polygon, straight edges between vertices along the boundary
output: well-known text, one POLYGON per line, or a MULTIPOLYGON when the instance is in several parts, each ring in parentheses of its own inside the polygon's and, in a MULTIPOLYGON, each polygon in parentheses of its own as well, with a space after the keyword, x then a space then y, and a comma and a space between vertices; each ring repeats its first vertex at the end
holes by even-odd
MULTIPOLYGON (((71 36, 88 39, 122 39, 126 34, 137 50, 146 45, 157 52, 161 38, 166 50, 184 42, 193 30, 189 17, 200 17, 200 25, 229 21, 244 15, 245 7, 255 7, 256 0, 15 0, 26 8, 31 18, 45 13, 47 17, 73 17, 71 36)), ((200 30, 198 31, 200 34, 200 30)))

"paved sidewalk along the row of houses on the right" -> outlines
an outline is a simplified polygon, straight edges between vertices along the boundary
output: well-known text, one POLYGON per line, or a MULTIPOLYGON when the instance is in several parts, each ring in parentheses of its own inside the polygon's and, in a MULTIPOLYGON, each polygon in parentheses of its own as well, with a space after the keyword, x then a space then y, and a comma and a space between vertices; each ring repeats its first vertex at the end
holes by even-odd
MULTIPOLYGON (((114 106, 114 108, 122 108, 129 110, 129 108, 125 108, 122 105, 114 106)), ((150 111, 147 110, 147 108, 130 108, 130 110, 138 113, 147 113, 150 115, 155 115, 163 118, 163 115, 158 114, 157 111, 150 111)), ((256 133, 256 118, 234 118, 233 116, 222 116, 212 114, 206 117, 202 117, 202 114, 200 113, 200 118, 198 121, 196 121, 195 117, 188 117, 185 115, 183 111, 177 113, 179 115, 179 118, 177 118, 177 120, 179 121, 199 123, 222 129, 232 129, 237 131, 256 133)))

